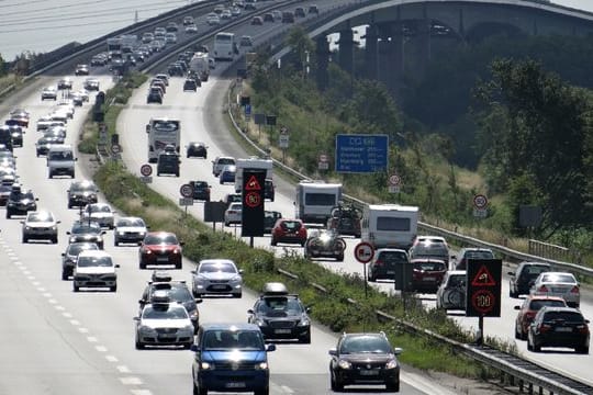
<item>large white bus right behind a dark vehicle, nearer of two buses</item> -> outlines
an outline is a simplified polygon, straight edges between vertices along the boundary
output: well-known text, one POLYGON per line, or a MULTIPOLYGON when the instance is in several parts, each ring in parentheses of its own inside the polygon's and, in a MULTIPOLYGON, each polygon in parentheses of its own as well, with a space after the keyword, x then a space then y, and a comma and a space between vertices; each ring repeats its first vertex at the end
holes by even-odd
POLYGON ((165 147, 175 149, 177 154, 180 151, 181 144, 181 122, 167 117, 150 119, 146 124, 146 133, 148 134, 148 162, 156 163, 158 155, 165 151, 165 147))

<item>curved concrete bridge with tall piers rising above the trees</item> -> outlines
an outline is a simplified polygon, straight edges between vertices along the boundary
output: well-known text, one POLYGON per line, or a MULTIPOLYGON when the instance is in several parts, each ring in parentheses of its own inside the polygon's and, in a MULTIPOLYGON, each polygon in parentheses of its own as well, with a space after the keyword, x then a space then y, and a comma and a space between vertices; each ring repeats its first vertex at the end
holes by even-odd
MULTIPOLYGON (((398 91, 406 65, 422 74, 438 50, 506 34, 586 36, 593 13, 525 0, 390 0, 361 3, 310 33, 317 46, 317 83, 327 86, 329 43, 339 33, 337 63, 354 72, 353 29, 367 25, 365 77, 398 91)), ((412 70, 406 70, 412 71, 412 70)))

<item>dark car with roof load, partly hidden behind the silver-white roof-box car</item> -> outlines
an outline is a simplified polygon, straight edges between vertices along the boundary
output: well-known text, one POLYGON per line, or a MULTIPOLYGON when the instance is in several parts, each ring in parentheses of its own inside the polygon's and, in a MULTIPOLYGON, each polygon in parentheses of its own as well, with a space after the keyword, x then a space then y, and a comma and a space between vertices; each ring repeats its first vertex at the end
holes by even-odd
POLYGON ((191 324, 193 325, 194 332, 198 332, 200 326, 200 312, 198 311, 198 304, 202 303, 201 298, 194 298, 190 292, 186 281, 172 280, 170 275, 164 278, 159 274, 159 271, 153 272, 153 280, 148 281, 142 298, 138 301, 139 313, 144 306, 154 302, 155 295, 167 295, 171 302, 177 302, 188 311, 191 324), (163 281, 165 280, 165 281, 163 281))

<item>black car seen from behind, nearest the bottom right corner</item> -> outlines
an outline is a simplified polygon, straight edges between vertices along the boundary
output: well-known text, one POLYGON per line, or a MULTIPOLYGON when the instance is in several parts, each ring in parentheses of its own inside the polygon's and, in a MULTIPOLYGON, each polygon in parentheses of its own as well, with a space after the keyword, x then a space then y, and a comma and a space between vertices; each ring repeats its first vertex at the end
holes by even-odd
POLYGON ((540 352, 542 347, 568 347, 588 354, 590 341, 589 319, 579 309, 545 306, 529 325, 527 350, 540 352))

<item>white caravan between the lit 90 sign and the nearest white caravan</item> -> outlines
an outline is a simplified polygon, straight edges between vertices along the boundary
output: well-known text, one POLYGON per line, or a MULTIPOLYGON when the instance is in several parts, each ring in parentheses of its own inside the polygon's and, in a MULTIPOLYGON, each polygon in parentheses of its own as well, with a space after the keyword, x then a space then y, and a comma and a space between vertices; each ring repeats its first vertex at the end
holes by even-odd
POLYGON ((342 201, 340 183, 301 181, 296 184, 295 216, 304 223, 327 224, 332 208, 342 201))

